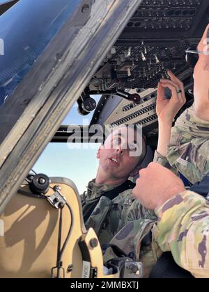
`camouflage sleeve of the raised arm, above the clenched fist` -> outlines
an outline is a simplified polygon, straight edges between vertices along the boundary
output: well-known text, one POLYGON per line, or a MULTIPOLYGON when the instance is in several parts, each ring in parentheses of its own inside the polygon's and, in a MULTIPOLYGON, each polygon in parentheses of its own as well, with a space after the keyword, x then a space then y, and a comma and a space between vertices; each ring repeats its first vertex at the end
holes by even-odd
POLYGON ((209 122, 188 108, 172 128, 167 159, 173 168, 182 173, 192 184, 201 181, 209 172, 209 122))

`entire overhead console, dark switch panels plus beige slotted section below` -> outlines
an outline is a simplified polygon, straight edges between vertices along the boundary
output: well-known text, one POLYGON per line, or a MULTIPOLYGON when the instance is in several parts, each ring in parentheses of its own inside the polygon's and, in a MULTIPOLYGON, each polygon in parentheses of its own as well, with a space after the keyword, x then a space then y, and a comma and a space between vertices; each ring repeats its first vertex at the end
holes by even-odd
POLYGON ((196 49, 208 23, 208 0, 144 0, 91 80, 89 93, 103 95, 91 123, 138 123, 147 135, 156 133, 157 83, 171 70, 184 82, 191 103, 193 71, 185 51, 196 49), (132 90, 140 102, 116 97, 132 90))

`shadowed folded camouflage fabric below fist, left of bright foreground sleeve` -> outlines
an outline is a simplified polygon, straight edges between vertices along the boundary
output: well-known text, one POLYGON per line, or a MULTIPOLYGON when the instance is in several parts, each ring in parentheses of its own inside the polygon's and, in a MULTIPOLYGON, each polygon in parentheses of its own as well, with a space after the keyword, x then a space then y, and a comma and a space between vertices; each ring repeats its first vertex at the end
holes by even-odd
MULTIPOLYGON (((142 244, 144 237, 150 233, 156 221, 150 219, 139 219, 129 222, 121 229, 111 240, 111 245, 116 245, 123 250, 127 257, 133 261, 141 262, 144 266, 142 277, 147 278, 150 275, 157 259, 162 255, 162 250, 152 236, 150 243, 146 246, 142 244)), ((112 261, 117 258, 114 249, 107 248, 104 254, 104 262, 112 261)))

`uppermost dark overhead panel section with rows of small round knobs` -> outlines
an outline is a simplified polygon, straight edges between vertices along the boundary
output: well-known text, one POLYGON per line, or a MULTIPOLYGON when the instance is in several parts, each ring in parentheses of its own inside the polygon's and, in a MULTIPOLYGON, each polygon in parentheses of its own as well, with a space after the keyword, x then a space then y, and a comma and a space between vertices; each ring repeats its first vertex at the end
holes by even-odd
POLYGON ((199 38, 208 14, 207 0, 144 0, 122 38, 199 38), (132 35, 130 35, 132 34, 132 35))

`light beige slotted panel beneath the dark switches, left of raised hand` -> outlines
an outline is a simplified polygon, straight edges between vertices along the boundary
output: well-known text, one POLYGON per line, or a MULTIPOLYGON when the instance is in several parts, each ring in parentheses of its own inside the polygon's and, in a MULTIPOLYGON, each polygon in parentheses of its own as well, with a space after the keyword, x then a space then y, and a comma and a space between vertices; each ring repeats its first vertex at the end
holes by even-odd
MULTIPOLYGON (((130 90, 134 94, 134 90, 130 90)), ((141 102, 135 104, 117 96, 103 95, 93 115, 92 124, 108 124, 110 127, 119 127, 122 124, 135 124, 143 127, 147 136, 156 134, 157 90, 150 88, 141 92, 141 102)))

